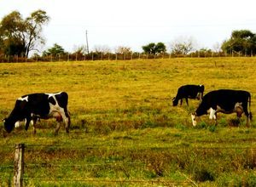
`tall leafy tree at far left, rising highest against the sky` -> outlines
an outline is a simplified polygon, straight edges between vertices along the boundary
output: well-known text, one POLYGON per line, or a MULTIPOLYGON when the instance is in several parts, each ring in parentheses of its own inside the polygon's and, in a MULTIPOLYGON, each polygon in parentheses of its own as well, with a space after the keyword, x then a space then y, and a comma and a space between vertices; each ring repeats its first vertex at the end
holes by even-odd
POLYGON ((1 48, 5 54, 25 55, 37 50, 38 44, 44 44, 41 36, 44 24, 48 23, 49 16, 43 10, 33 12, 26 20, 17 11, 3 17, 0 23, 1 48))

